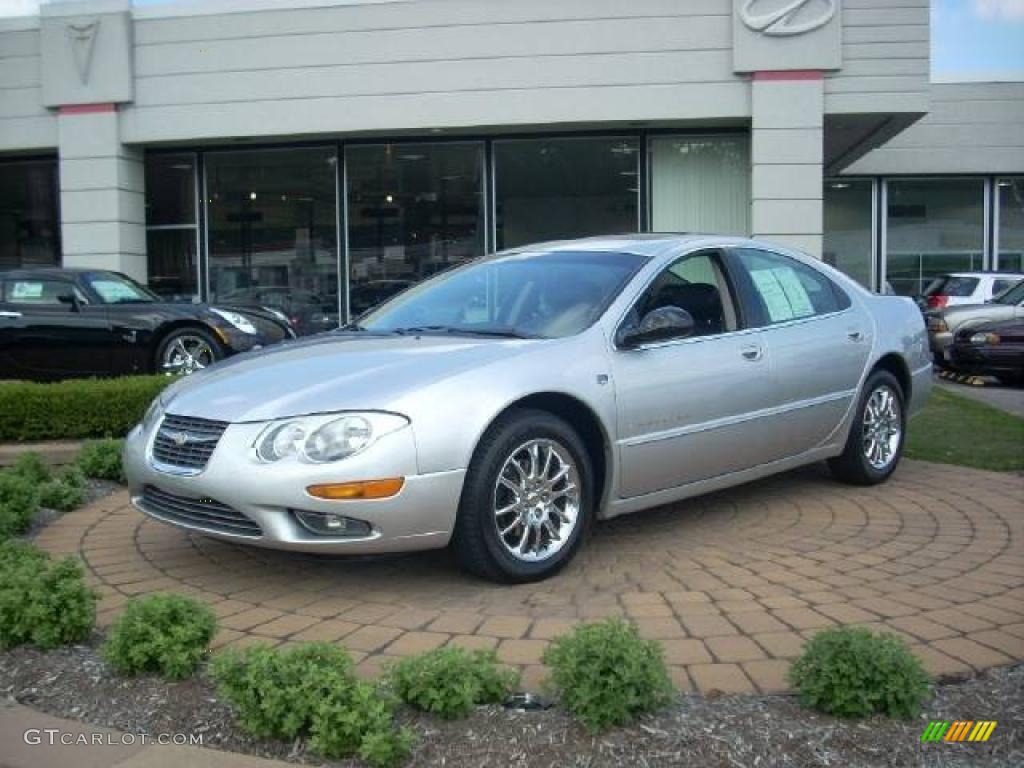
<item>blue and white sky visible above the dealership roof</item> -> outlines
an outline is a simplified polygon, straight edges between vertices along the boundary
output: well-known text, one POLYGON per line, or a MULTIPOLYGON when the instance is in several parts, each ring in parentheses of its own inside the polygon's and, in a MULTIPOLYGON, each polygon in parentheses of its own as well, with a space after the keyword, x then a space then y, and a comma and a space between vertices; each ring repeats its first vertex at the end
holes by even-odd
MULTIPOLYGON (((39 3, 0 0, 0 16, 36 13, 39 3)), ((1024 81, 1024 0, 932 0, 932 80, 1024 81)))

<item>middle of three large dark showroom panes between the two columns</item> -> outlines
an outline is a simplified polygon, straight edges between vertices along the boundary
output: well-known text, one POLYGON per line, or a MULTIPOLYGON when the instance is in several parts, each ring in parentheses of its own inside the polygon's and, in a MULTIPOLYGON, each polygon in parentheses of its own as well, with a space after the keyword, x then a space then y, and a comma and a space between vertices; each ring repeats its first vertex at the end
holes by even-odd
POLYGON ((351 316, 483 254, 482 143, 348 146, 345 176, 351 316))

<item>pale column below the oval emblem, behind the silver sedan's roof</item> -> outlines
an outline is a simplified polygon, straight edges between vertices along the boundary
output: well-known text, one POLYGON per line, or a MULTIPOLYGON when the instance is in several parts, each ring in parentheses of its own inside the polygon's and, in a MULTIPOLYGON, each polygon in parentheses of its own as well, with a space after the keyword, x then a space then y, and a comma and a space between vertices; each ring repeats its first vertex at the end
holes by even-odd
POLYGON ((752 89, 753 234, 821 258, 822 73, 756 72, 752 89))

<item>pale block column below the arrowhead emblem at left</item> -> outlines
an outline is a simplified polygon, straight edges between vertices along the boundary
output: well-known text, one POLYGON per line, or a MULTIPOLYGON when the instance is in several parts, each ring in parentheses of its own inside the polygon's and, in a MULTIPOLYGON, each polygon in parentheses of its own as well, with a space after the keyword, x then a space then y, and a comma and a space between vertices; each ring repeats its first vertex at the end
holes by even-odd
POLYGON ((57 117, 65 266, 146 280, 141 150, 118 135, 113 103, 61 106, 57 117))

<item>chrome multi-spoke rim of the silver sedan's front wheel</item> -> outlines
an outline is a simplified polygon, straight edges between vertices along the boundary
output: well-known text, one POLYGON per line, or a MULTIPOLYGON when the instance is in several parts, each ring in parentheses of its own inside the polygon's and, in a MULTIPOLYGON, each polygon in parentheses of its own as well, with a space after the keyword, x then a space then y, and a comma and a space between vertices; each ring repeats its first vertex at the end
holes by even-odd
POLYGON ((523 443, 495 483, 498 538, 518 560, 547 560, 569 541, 580 519, 580 472, 565 446, 546 438, 523 443))

